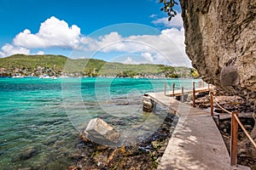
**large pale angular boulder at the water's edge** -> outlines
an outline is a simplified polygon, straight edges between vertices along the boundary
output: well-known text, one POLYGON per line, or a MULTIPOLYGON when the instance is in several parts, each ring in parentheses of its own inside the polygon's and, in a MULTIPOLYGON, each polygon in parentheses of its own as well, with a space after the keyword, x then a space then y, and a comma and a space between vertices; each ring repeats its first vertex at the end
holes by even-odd
POLYGON ((101 118, 91 119, 84 130, 84 136, 98 144, 118 144, 120 134, 101 118))

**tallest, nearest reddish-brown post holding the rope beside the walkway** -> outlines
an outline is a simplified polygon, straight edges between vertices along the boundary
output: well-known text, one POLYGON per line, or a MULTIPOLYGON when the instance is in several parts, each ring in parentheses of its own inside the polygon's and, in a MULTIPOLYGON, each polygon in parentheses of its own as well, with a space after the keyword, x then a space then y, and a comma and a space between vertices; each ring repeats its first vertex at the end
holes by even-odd
POLYGON ((237 111, 232 112, 231 117, 231 139, 230 139, 230 165, 237 164, 237 137, 238 137, 238 123, 235 115, 238 116, 237 111))

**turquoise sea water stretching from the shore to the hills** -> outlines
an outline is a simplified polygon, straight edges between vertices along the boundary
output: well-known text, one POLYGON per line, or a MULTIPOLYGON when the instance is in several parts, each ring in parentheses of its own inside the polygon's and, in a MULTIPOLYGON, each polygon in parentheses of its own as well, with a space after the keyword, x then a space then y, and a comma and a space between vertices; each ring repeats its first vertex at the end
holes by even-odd
MULTIPOLYGON (((102 117, 129 135, 147 122, 142 96, 164 84, 192 88, 191 79, 0 78, 0 169, 66 169, 79 132, 102 117)), ((167 88, 171 90, 171 88, 167 88)), ((156 111, 157 112, 157 111, 156 111)), ((148 115, 149 114, 149 115, 148 115)), ((154 119, 154 118, 153 118, 154 119)), ((158 120, 158 119, 154 119, 158 120)), ((153 123, 154 124, 154 123, 153 123)), ((151 129, 152 130, 152 129, 151 129)))

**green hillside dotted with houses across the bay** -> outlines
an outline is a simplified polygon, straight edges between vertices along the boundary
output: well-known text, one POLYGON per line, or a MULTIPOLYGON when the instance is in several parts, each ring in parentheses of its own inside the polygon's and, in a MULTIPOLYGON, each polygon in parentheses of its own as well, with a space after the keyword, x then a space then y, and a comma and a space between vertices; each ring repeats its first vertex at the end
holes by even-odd
POLYGON ((68 75, 73 77, 198 77, 195 69, 169 65, 125 65, 101 59, 68 59, 62 55, 15 54, 0 59, 0 76, 68 75), (4 73, 4 74, 3 74, 4 73))

